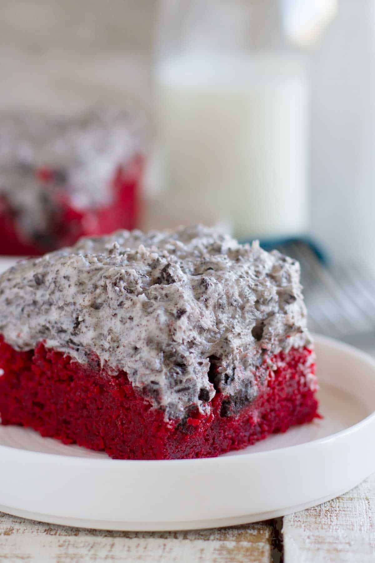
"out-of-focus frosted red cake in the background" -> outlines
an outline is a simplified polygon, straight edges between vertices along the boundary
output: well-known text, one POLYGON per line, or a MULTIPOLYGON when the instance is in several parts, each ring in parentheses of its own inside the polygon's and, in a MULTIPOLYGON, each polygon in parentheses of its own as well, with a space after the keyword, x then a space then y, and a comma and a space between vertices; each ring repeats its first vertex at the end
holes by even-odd
POLYGON ((43 254, 137 224, 144 127, 124 110, 0 115, 0 253, 43 254))

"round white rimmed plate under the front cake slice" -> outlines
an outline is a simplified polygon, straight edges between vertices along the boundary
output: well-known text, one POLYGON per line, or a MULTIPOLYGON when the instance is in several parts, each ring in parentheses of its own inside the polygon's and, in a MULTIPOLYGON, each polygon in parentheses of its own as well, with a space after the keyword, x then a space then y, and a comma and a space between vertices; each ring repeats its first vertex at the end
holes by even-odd
POLYGON ((315 338, 324 419, 219 458, 114 461, 0 426, 0 510, 112 530, 213 528, 308 508, 375 471, 375 361, 315 338))

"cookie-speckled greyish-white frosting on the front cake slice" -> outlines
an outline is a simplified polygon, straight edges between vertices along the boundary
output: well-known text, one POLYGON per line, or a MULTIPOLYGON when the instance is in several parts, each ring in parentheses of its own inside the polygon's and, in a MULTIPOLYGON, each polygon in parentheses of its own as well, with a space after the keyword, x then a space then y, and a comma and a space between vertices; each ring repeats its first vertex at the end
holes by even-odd
POLYGON ((96 366, 108 385, 125 373, 165 421, 185 424, 219 397, 223 419, 256 404, 280 358, 300 354, 316 414, 299 263, 207 227, 118 231, 17 263, 0 276, 0 333, 14 351, 43 343, 96 366))

